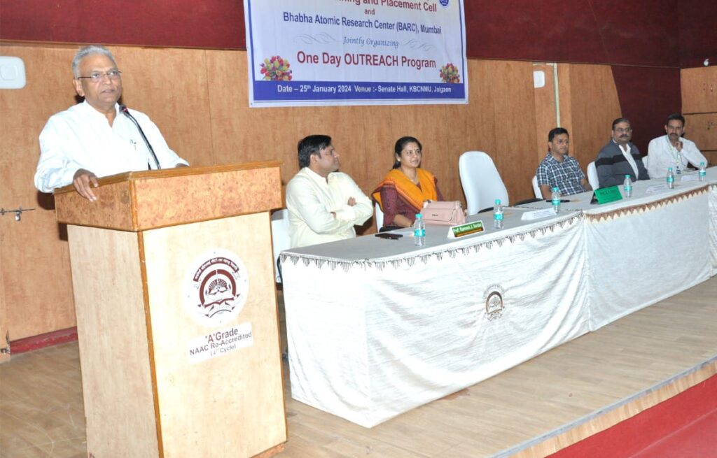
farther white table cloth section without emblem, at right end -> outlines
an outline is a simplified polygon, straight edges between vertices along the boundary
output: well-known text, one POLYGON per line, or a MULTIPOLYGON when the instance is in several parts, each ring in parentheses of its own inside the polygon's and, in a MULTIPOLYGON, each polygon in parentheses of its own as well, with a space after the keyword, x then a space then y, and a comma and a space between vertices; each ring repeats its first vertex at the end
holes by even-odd
MULTIPOLYGON (((709 172, 717 175, 715 167, 709 172)), ((708 182, 680 180, 672 190, 650 193, 663 183, 635 182, 631 198, 603 205, 590 203, 592 191, 561 204, 584 214, 591 331, 685 291, 717 270, 717 210, 711 208, 717 191, 711 192, 708 182)))

